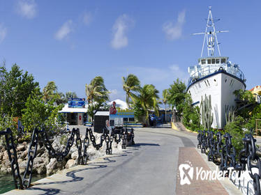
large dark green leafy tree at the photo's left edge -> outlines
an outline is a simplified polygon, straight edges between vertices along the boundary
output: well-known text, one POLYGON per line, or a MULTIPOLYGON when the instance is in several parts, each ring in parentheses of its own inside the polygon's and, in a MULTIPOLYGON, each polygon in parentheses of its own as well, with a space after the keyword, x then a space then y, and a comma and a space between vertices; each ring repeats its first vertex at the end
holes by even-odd
POLYGON ((1 116, 22 116, 25 102, 31 93, 40 93, 38 82, 27 71, 14 64, 8 72, 3 65, 0 68, 0 107, 1 116))

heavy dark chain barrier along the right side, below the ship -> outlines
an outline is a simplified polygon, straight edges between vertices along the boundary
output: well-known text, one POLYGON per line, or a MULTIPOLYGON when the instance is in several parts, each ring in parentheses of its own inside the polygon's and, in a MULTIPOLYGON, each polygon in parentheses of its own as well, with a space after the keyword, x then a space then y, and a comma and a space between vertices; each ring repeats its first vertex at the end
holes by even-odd
POLYGON ((225 143, 222 142, 221 132, 214 134, 212 131, 200 131, 197 135, 197 148, 201 148, 201 153, 206 153, 208 150, 208 160, 214 162, 220 158, 219 169, 228 171, 233 168, 234 171, 246 171, 246 166, 249 171, 249 176, 253 179, 253 187, 255 194, 260 194, 260 178, 261 178, 261 160, 256 153, 255 142, 251 134, 245 134, 244 149, 239 152, 239 161, 236 161, 236 150, 232 146, 232 136, 229 133, 223 135, 225 143), (257 169, 258 173, 253 173, 253 169, 257 169))

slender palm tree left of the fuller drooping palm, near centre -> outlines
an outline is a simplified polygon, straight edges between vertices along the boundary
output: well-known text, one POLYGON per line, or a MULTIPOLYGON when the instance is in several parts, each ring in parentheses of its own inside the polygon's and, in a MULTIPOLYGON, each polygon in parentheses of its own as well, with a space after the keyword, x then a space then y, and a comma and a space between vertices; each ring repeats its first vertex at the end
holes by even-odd
POLYGON ((126 92, 126 103, 128 108, 130 107, 130 98, 133 100, 132 91, 138 91, 140 88, 140 80, 133 74, 127 77, 121 77, 124 91, 126 92))

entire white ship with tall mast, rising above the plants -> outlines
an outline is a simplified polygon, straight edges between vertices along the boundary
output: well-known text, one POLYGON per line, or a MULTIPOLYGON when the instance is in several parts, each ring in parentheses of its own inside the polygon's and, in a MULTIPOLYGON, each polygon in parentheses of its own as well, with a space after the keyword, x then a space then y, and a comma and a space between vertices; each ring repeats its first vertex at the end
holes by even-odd
POLYGON ((190 78, 187 91, 191 94, 194 105, 200 107, 205 94, 211 95, 211 107, 214 115, 212 127, 222 129, 225 126, 225 113, 235 108, 234 91, 246 88, 246 79, 239 65, 228 60, 228 56, 221 56, 216 34, 228 31, 216 31, 209 7, 207 27, 204 33, 201 58, 198 65, 188 67, 190 78), (207 45, 208 56, 202 58, 204 45, 207 45), (215 45, 218 47, 218 56, 214 56, 215 45))

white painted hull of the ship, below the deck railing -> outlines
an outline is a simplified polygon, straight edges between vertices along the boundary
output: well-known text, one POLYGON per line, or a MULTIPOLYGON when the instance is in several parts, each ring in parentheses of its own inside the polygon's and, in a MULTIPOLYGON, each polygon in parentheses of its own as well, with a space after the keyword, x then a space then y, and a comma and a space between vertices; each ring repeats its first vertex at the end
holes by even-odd
POLYGON ((225 107, 235 107, 234 91, 245 89, 244 82, 225 72, 204 77, 188 86, 193 104, 200 107, 201 97, 211 95, 211 107, 214 115, 212 127, 222 129, 225 126, 225 107))

